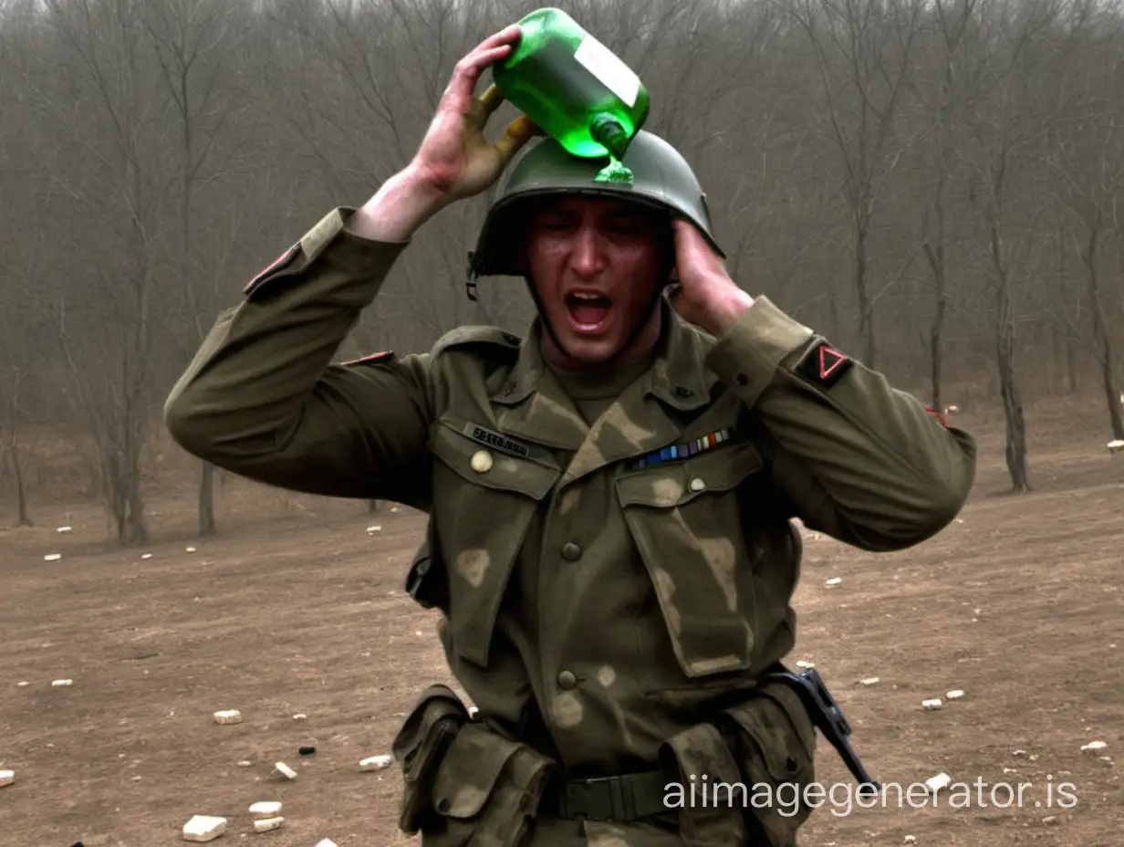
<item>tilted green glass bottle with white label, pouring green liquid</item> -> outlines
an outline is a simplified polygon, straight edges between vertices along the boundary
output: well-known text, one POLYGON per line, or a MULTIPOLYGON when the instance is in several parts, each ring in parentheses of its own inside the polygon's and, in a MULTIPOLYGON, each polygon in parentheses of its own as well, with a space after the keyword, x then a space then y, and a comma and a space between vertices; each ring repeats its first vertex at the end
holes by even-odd
POLYGON ((519 42, 492 65, 504 97, 566 151, 609 156, 599 181, 632 181, 620 164, 647 119, 640 78, 561 9, 537 9, 518 21, 519 42))

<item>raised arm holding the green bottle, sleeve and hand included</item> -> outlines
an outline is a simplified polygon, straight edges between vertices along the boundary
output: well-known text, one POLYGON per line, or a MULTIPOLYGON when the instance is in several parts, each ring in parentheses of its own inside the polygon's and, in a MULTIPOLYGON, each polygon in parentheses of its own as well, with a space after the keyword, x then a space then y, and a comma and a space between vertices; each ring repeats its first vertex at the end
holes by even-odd
POLYGON ((362 208, 326 215, 219 315, 164 405, 181 447, 283 488, 426 505, 428 355, 333 357, 417 228, 484 190, 536 134, 520 118, 489 144, 500 97, 474 96, 517 38, 508 27, 465 55, 407 168, 362 208))

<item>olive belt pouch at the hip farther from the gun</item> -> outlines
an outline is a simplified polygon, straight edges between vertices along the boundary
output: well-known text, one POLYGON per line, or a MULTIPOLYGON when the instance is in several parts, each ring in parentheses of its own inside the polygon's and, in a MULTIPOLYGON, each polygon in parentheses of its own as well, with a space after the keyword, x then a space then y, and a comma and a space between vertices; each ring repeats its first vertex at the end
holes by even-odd
POLYGON ((553 762, 471 720, 444 685, 423 692, 392 746, 402 768, 399 828, 442 847, 517 847, 553 762))

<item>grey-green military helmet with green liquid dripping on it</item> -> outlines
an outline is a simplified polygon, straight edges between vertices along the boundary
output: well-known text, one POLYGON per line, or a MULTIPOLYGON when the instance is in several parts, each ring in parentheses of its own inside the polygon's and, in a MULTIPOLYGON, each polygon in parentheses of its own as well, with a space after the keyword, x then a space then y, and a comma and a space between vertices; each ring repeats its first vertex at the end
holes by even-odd
POLYGON ((597 182, 595 177, 607 159, 574 156, 553 138, 528 145, 510 168, 506 180, 495 189, 495 197, 475 250, 469 256, 471 277, 522 276, 514 247, 522 201, 547 195, 623 197, 654 206, 690 220, 723 258, 715 240, 703 191, 687 160, 658 135, 642 129, 628 146, 622 164, 633 173, 628 182, 597 182))

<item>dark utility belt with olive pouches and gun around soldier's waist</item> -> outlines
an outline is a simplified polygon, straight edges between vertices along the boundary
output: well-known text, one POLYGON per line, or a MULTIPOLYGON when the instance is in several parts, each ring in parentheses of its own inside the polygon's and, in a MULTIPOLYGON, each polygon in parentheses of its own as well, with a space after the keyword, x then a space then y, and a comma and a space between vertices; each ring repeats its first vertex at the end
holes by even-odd
POLYGON ((668 739, 647 771, 572 778, 520 722, 509 739, 469 717, 446 686, 427 688, 393 744, 399 826, 423 845, 522 847, 536 818, 678 822, 687 845, 792 847, 810 816, 816 729, 862 789, 879 786, 851 750, 850 726, 814 670, 783 668, 668 739), (532 739, 532 742, 523 739, 532 739))

